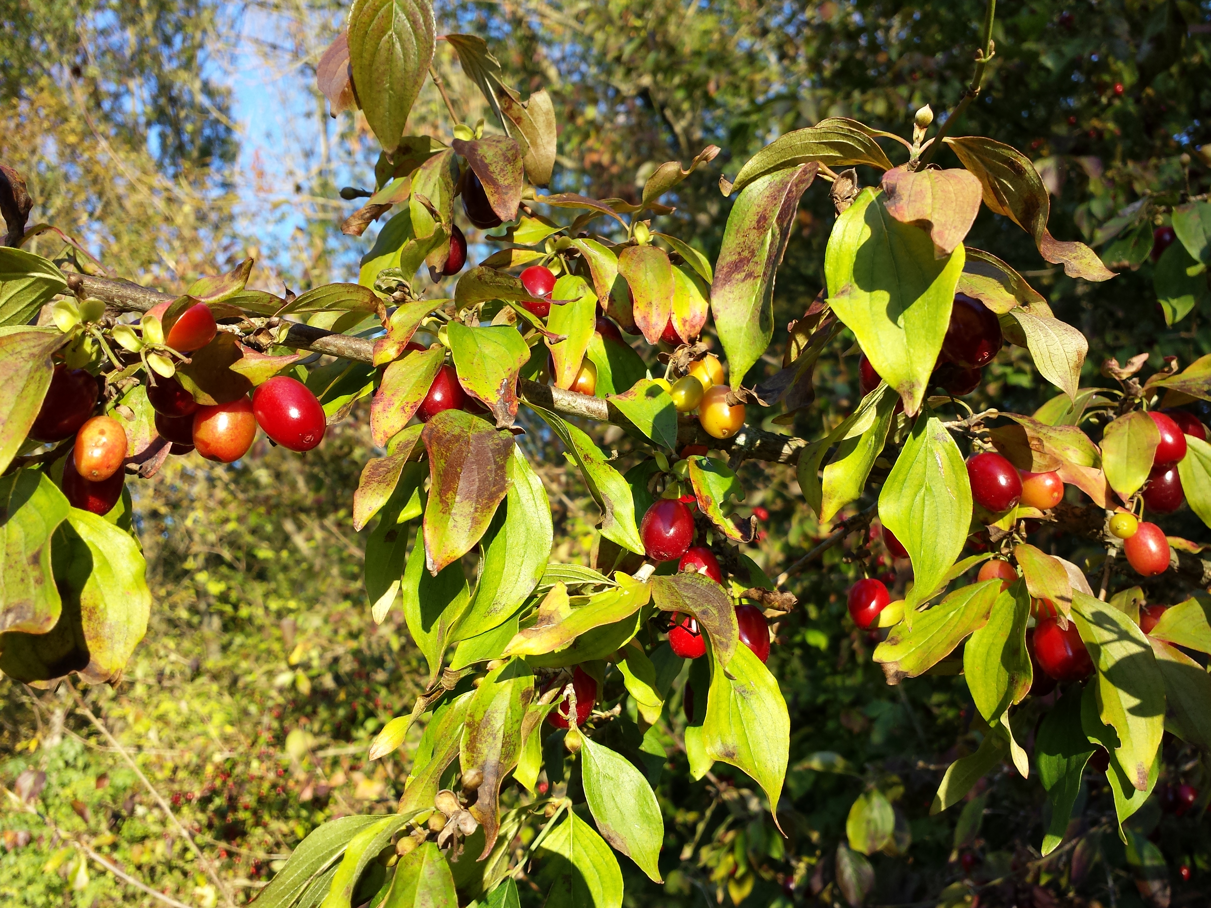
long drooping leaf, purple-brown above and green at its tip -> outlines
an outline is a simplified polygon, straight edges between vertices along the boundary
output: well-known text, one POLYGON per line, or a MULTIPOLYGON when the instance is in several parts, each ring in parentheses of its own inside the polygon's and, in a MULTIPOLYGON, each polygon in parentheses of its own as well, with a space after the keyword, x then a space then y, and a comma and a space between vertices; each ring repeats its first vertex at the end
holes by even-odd
POLYGON ((782 264, 799 197, 816 169, 816 165, 804 163, 759 177, 744 186, 728 214, 711 283, 711 311, 728 356, 733 389, 740 387, 774 337, 775 272, 782 264))

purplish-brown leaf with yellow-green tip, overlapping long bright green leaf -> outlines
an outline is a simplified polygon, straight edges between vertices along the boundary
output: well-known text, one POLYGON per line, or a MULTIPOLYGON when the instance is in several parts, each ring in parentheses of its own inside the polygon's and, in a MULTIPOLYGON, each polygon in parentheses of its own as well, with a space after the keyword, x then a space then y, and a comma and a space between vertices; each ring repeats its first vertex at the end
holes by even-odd
POLYGON ((420 433, 429 452, 425 559, 437 574, 470 552, 509 490, 513 436, 463 410, 443 410, 420 433))

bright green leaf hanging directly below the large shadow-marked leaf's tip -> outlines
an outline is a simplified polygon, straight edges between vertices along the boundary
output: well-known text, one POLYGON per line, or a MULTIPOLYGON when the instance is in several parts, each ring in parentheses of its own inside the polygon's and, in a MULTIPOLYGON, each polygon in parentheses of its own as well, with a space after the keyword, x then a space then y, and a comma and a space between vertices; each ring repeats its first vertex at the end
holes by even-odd
POLYGON ((879 493, 879 519, 912 558, 916 580, 905 597, 911 623, 911 611, 941 588, 971 527, 966 465, 936 416, 917 418, 879 493))

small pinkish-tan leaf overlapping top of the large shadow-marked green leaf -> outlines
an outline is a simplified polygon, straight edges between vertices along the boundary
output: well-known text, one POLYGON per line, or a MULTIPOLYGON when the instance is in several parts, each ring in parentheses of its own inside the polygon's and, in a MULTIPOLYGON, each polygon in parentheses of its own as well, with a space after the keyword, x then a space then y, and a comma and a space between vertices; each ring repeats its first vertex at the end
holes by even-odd
POLYGON ((964 169, 909 171, 883 174, 888 214, 905 224, 928 226, 935 258, 945 258, 971 230, 980 213, 980 180, 964 169))

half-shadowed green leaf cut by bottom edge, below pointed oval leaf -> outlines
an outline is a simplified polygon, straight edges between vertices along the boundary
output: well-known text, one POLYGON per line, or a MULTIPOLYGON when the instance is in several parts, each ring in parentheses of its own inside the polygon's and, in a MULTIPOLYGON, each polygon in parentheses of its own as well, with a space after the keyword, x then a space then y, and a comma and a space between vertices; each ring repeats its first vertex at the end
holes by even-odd
POLYGON ((540 879, 550 884, 544 908, 621 908, 622 872, 601 835, 569 810, 538 846, 540 879))

